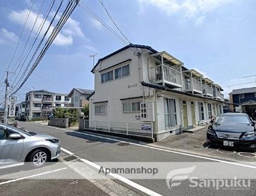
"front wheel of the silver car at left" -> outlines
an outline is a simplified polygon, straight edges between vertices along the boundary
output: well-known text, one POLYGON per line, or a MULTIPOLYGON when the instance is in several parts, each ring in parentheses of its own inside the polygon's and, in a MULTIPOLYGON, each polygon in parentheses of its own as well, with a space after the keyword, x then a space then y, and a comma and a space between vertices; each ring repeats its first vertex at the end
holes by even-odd
POLYGON ((29 156, 29 164, 34 168, 42 167, 48 160, 48 152, 44 149, 34 150, 29 156))

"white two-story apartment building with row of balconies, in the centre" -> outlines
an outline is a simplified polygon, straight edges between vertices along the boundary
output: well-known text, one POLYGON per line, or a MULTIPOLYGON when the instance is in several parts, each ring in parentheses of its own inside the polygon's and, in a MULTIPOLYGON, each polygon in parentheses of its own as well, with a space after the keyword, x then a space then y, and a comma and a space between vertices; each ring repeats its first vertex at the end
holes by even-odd
POLYGON ((222 113, 219 85, 150 46, 129 44, 99 59, 91 72, 90 127, 103 121, 110 121, 109 129, 124 121, 150 122, 159 141, 222 113))

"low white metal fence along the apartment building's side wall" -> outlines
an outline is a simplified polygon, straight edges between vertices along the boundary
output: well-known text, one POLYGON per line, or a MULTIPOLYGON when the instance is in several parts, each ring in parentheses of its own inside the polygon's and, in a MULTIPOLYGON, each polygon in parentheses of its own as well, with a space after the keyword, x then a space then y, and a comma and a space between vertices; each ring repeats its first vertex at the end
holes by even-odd
POLYGON ((151 122, 122 122, 83 119, 80 121, 80 130, 86 129, 153 139, 153 123, 151 122))

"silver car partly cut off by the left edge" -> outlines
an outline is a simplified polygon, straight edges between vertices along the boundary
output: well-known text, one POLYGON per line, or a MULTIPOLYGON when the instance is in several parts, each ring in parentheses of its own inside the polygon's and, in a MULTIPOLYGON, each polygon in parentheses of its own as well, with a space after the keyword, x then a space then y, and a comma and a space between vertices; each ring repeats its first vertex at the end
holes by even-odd
POLYGON ((24 162, 37 168, 60 155, 61 142, 55 137, 0 123, 0 168, 24 162))

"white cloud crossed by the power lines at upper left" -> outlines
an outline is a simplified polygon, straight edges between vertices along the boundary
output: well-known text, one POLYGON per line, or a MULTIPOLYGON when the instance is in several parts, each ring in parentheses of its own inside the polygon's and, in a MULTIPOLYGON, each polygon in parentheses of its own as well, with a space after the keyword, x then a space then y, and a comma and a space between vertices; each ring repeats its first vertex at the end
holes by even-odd
MULTIPOLYGON (((23 25, 24 21, 27 18, 29 10, 24 9, 21 11, 12 11, 9 15, 9 18, 14 23, 23 25)), ((30 12, 29 19, 27 20, 26 28, 31 30, 34 25, 34 21, 36 20, 37 14, 33 11, 30 12)), ((33 28, 33 33, 36 33, 38 28, 40 27, 40 24, 43 22, 43 15, 39 15, 39 18, 37 19, 36 25, 33 28)), ((50 22, 46 20, 45 25, 43 25, 42 31, 40 33, 40 36, 43 36, 47 28, 49 27, 50 22)), ((72 18, 69 18, 67 23, 64 25, 64 28, 62 28, 62 31, 56 36, 55 40, 53 41, 53 44, 58 46, 65 46, 65 45, 71 45, 73 43, 72 36, 84 36, 83 32, 81 31, 81 28, 79 27, 80 23, 72 18)), ((50 26, 47 37, 49 37, 50 33, 53 30, 53 25, 50 26)))

